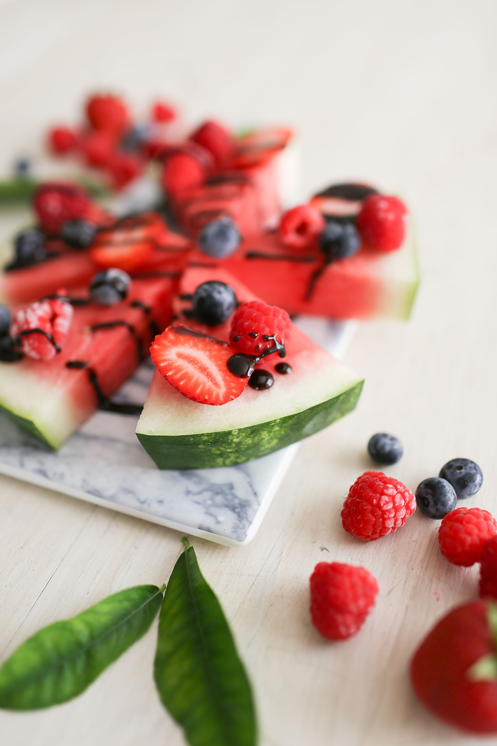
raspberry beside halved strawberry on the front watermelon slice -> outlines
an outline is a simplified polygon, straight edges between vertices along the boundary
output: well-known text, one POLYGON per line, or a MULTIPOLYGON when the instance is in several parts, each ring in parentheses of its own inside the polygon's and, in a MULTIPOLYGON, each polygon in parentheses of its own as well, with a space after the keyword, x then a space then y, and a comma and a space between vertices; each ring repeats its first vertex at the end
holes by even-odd
POLYGON ((261 357, 270 348, 277 351, 275 340, 265 336, 276 337, 279 345, 284 345, 290 335, 291 321, 286 311, 262 301, 246 301, 235 310, 229 343, 238 352, 261 357))

